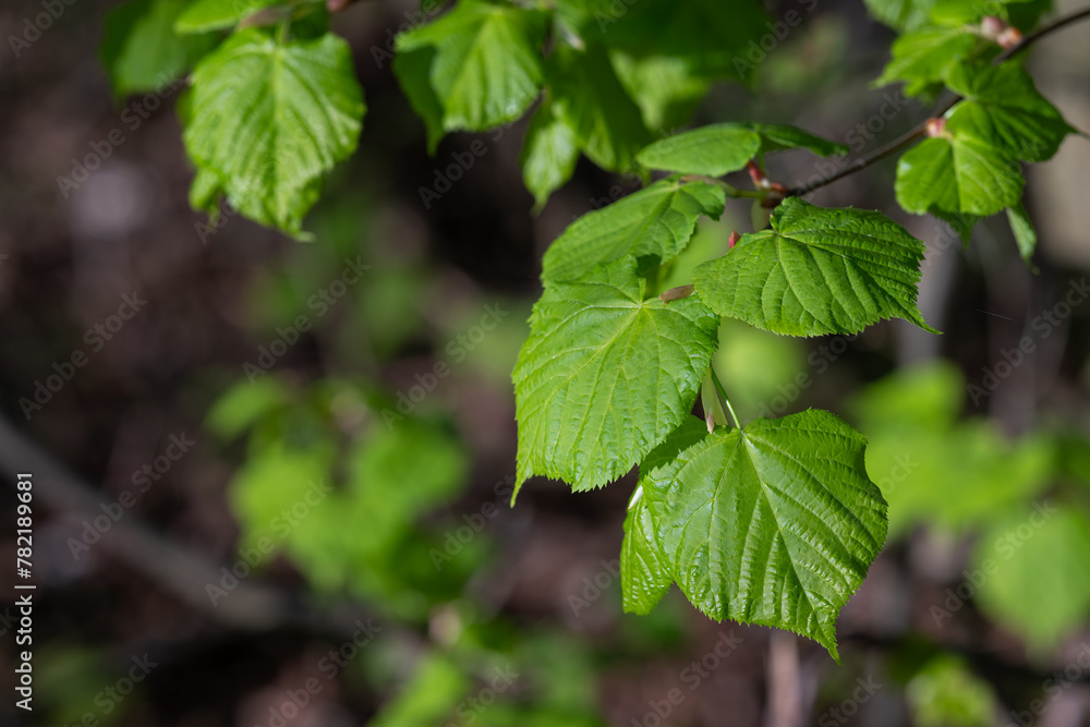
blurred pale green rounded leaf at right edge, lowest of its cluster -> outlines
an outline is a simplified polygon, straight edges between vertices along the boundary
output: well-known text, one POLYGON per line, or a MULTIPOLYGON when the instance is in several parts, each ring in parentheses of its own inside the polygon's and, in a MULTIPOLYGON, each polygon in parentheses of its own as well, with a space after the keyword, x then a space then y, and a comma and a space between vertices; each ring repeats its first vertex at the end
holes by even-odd
POLYGON ((1090 523, 1081 510, 1037 505, 983 533, 974 557, 986 578, 981 609, 1039 650, 1086 623, 1090 523))

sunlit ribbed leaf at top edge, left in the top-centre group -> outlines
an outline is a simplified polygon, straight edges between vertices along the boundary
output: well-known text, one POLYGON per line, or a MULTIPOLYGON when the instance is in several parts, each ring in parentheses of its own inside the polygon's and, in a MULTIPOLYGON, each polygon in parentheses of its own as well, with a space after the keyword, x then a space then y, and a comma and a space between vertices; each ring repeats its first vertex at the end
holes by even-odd
POLYGON ((434 48, 428 78, 447 131, 484 131, 514 121, 542 85, 548 14, 461 0, 439 20, 398 37, 398 52, 434 48))

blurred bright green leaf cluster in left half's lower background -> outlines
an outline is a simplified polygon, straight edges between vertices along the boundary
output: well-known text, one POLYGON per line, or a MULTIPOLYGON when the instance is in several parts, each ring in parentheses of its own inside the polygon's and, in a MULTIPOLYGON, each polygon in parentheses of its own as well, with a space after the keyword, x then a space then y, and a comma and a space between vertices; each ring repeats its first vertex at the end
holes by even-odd
POLYGON ((225 393, 208 428, 225 441, 246 435, 230 494, 240 553, 262 554, 252 567, 283 554, 322 591, 426 619, 469 573, 435 568, 441 531, 422 519, 459 496, 469 463, 441 423, 385 425, 388 403, 358 383, 300 388, 266 375, 225 393))

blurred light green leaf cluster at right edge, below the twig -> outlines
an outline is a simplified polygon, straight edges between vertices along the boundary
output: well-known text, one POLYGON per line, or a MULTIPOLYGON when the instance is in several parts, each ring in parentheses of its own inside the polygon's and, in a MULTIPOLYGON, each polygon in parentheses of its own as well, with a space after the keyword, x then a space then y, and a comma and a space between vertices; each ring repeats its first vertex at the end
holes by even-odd
MULTIPOLYGON (((1047 651, 1090 615, 1087 446, 1063 432, 1012 443, 986 420, 959 421, 965 390, 948 364, 870 387, 853 405, 867 467, 889 502, 891 536, 974 534, 964 575, 976 605, 1047 651)), ((931 616, 943 626, 958 610, 943 602, 931 616)))

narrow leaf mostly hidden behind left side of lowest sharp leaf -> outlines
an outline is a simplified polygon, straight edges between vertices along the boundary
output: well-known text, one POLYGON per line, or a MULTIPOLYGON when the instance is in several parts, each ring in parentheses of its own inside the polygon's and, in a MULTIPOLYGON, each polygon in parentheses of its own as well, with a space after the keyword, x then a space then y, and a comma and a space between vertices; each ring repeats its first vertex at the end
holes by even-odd
MULTIPOLYGON (((666 441, 642 462, 640 472, 650 472, 674 461, 683 450, 707 436, 704 422, 689 416, 666 441)), ((620 552, 621 598, 625 611, 645 616, 674 582, 674 569, 663 553, 655 533, 654 519, 647 509, 643 487, 638 486, 625 519, 625 541, 620 552)))

